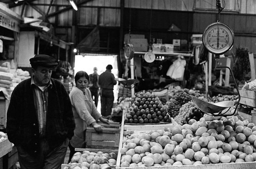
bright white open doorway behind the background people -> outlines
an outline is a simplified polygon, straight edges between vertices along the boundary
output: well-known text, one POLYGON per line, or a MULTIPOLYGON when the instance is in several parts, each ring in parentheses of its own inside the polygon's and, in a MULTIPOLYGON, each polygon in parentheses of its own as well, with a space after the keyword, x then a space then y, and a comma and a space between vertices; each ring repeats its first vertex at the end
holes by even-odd
MULTIPOLYGON (((83 54, 75 56, 74 75, 78 71, 85 71, 87 74, 93 73, 93 68, 97 67, 98 74, 106 71, 106 66, 111 64, 113 66, 112 73, 115 78, 118 77, 117 55, 104 55, 104 54, 83 54)), ((118 99, 118 84, 114 86, 114 102, 118 99)), ((100 113, 100 97, 98 101, 97 110, 100 113)))

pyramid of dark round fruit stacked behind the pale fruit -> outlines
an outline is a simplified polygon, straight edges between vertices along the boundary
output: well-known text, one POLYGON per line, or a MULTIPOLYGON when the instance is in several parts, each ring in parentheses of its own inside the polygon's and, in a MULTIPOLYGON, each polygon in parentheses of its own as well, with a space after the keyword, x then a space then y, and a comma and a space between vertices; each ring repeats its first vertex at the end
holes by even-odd
POLYGON ((132 105, 127 110, 125 123, 170 123, 170 115, 167 109, 161 104, 158 97, 150 92, 135 93, 132 105))

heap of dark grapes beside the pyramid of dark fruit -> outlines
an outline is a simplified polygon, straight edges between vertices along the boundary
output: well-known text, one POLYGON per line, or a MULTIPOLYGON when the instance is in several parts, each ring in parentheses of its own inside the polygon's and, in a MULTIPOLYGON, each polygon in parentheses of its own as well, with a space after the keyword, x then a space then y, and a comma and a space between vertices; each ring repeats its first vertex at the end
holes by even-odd
POLYGON ((168 107, 168 112, 171 117, 176 117, 180 113, 180 107, 188 101, 190 101, 189 94, 186 92, 179 92, 176 93, 172 99, 170 99, 169 107, 168 107))

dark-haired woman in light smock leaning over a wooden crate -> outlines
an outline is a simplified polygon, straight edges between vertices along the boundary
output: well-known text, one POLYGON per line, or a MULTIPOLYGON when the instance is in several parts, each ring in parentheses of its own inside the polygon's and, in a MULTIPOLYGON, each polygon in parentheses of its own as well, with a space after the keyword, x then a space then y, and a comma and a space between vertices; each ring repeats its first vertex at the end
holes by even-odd
POLYGON ((93 103, 91 92, 87 88, 89 84, 88 74, 84 71, 77 72, 75 75, 75 83, 76 86, 73 87, 69 94, 76 128, 69 144, 70 156, 68 163, 75 153, 75 148, 85 148, 85 130, 87 126, 91 125, 96 132, 102 132, 102 126, 97 124, 96 120, 108 124, 108 120, 102 117, 93 103))

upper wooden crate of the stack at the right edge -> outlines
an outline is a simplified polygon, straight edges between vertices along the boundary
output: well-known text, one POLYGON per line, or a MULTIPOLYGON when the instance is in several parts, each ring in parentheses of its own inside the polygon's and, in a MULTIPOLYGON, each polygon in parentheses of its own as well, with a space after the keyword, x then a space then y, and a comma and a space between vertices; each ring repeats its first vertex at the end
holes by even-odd
POLYGON ((243 85, 239 85, 239 93, 241 96, 241 104, 256 107, 256 89, 253 91, 242 90, 243 85))

